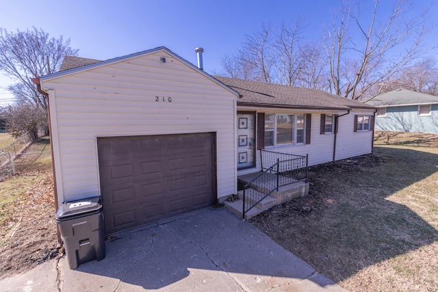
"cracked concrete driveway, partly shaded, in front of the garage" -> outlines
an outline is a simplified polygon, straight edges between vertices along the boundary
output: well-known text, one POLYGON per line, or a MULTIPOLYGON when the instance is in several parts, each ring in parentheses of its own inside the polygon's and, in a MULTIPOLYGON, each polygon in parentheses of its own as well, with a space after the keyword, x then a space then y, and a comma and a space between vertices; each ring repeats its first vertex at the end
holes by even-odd
POLYGON ((66 258, 0 281, 3 291, 344 291, 226 209, 120 233, 106 257, 66 258), (4 290, 5 289, 5 290, 4 290))

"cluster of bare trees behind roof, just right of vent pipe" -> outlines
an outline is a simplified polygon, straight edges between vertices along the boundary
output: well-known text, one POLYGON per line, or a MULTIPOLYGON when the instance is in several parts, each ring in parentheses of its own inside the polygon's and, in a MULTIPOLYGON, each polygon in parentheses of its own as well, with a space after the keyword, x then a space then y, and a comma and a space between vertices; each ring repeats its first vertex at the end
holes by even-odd
POLYGON ((320 44, 304 42, 302 20, 282 23, 279 34, 272 24, 262 24, 235 55, 222 58, 222 75, 322 89, 327 84, 320 44))

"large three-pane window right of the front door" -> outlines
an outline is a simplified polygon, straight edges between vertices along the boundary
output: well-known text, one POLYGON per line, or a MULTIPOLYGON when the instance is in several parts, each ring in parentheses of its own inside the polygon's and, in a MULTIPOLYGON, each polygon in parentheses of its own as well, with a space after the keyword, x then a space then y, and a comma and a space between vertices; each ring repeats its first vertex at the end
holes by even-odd
POLYGON ((304 144, 305 114, 265 114, 263 141, 265 147, 304 144))

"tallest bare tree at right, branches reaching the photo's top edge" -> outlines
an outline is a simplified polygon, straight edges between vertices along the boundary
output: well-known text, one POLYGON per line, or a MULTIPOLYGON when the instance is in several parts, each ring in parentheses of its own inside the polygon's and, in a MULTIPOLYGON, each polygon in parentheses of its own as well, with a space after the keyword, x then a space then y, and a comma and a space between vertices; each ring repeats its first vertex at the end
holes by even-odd
POLYGON ((330 61, 331 90, 359 100, 377 83, 394 76, 422 52, 422 41, 428 32, 424 15, 409 17, 408 0, 397 0, 387 20, 377 23, 381 12, 378 0, 370 19, 363 21, 360 6, 350 12, 343 2, 339 25, 333 23, 326 31, 326 53, 330 61), (352 40, 350 25, 359 32, 359 40, 352 40))

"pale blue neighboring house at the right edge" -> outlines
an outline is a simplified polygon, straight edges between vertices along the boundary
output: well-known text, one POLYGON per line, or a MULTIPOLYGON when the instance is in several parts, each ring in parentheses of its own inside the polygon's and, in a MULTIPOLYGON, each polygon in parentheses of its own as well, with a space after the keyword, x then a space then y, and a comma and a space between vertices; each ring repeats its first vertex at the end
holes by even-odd
POLYGON ((378 108, 376 130, 438 133, 438 96, 399 89, 365 103, 378 108))

